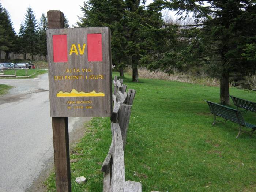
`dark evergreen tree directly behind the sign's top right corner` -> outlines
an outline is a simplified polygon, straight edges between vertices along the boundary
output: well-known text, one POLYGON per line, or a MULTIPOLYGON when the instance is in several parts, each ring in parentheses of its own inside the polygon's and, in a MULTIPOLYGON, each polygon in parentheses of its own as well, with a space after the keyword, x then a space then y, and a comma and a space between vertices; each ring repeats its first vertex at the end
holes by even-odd
POLYGON ((84 2, 81 9, 84 15, 79 18, 78 26, 110 28, 112 65, 118 68, 120 76, 123 76, 123 67, 127 63, 123 0, 89 0, 87 3, 84 2))

